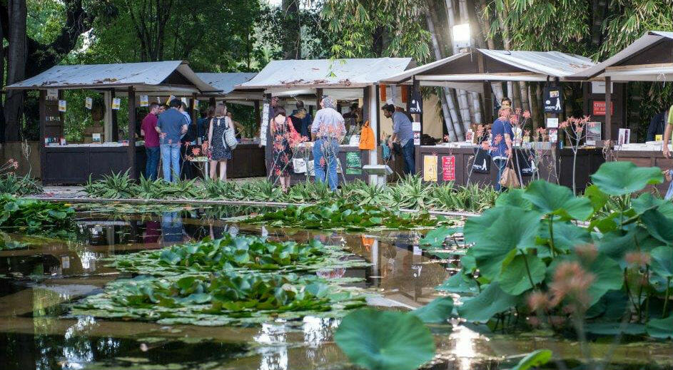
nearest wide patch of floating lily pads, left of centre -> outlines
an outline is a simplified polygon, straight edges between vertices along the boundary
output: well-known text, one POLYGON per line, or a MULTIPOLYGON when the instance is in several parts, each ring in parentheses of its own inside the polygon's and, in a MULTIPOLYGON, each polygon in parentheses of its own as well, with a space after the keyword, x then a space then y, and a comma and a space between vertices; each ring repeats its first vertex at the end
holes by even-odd
POLYGON ((219 326, 309 314, 342 317, 349 309, 364 305, 360 289, 340 287, 316 276, 225 272, 211 277, 117 280, 105 292, 75 304, 71 314, 219 326))

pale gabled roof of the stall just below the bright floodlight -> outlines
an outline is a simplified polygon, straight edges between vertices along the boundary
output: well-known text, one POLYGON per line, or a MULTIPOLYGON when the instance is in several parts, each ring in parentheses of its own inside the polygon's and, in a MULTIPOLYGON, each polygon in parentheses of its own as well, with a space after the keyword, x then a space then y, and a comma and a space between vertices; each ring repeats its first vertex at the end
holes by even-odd
POLYGON ((583 56, 560 51, 505 51, 474 49, 383 78, 381 83, 409 83, 410 78, 423 86, 447 86, 482 92, 484 81, 547 81, 566 78, 594 66, 583 56), (477 54, 478 53, 478 54, 477 54), (479 57, 483 57, 483 71, 479 57))

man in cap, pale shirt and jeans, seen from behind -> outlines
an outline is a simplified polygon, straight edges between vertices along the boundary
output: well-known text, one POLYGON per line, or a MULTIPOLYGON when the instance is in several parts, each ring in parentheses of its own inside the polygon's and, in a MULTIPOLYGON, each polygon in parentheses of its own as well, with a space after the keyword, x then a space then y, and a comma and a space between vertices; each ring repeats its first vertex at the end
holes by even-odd
POLYGON ((325 169, 327 168, 327 180, 331 190, 336 190, 339 184, 337 177, 337 155, 339 143, 346 133, 343 115, 336 111, 336 101, 330 96, 325 96, 320 101, 320 111, 315 112, 315 119, 310 128, 313 143, 313 168, 315 169, 315 182, 325 181, 325 169))

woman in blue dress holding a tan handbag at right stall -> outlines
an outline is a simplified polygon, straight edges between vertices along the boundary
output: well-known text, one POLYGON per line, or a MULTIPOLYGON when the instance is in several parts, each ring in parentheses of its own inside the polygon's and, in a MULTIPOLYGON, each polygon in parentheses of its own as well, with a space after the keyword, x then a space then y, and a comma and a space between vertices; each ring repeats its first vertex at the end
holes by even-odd
POLYGON ((515 185, 515 179, 511 178, 514 171, 509 171, 507 168, 507 163, 510 163, 510 158, 512 158, 512 138, 514 137, 512 125, 510 124, 511 114, 512 111, 510 108, 501 108, 498 111, 498 118, 493 122, 491 128, 492 141, 490 154, 493 164, 497 166, 495 190, 498 192, 505 191, 507 185, 510 187, 515 185))

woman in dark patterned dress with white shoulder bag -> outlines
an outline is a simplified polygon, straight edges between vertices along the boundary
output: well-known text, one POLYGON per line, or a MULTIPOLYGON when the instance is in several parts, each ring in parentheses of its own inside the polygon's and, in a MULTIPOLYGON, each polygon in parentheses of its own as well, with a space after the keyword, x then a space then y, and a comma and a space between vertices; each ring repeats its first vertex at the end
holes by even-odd
POLYGON ((220 180, 227 179, 227 160, 231 159, 231 148, 226 142, 226 130, 233 129, 227 117, 227 107, 220 103, 215 108, 215 116, 208 127, 208 145, 211 157, 211 179, 217 180, 217 168, 220 165, 220 180))

